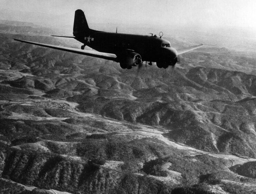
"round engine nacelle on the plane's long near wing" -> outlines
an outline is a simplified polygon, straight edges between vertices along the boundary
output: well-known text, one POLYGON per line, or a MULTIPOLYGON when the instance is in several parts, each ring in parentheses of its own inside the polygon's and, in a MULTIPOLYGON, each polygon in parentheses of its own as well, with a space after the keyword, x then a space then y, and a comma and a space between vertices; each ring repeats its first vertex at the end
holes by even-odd
POLYGON ((131 69, 132 66, 138 66, 141 63, 141 56, 136 52, 127 52, 120 59, 120 66, 123 69, 131 69))

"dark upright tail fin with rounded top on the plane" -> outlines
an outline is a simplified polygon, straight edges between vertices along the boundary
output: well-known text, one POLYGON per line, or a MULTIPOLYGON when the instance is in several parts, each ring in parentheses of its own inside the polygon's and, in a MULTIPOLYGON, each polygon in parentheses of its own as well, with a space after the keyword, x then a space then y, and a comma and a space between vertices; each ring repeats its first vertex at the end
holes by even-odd
POLYGON ((75 11, 75 19, 74 19, 74 27, 73 27, 73 35, 79 35, 89 32, 89 27, 87 21, 85 19, 84 12, 80 9, 75 11))

